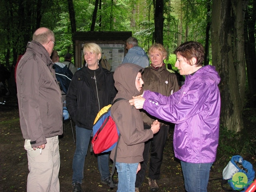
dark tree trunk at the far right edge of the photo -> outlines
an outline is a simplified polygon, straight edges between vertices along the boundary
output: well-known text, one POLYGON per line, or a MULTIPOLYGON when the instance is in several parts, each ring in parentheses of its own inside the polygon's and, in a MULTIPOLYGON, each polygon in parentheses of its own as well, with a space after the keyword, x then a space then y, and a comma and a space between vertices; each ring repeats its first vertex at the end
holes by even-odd
POLYGON ((249 87, 249 105, 256 106, 256 50, 255 50, 255 24, 256 24, 256 1, 253 1, 252 10, 246 10, 244 38, 245 38, 245 59, 247 68, 247 78, 249 87))

